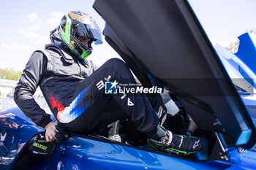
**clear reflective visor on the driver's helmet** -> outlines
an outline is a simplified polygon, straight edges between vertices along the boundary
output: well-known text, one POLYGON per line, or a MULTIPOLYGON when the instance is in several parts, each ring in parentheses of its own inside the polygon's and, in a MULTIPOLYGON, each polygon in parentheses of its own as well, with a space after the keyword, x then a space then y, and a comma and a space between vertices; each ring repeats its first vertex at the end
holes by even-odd
POLYGON ((102 44, 102 34, 99 26, 94 20, 90 20, 91 23, 79 23, 78 26, 78 35, 87 36, 90 39, 93 39, 95 45, 102 44))

